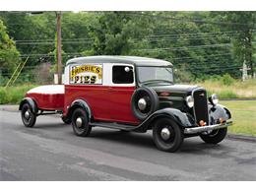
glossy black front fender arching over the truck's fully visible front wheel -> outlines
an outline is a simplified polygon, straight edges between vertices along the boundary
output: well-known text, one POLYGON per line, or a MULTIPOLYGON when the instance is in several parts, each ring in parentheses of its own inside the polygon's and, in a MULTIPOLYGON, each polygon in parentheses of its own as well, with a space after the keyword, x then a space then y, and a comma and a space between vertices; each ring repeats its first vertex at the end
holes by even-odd
POLYGON ((154 123, 155 120, 157 120, 161 117, 167 117, 167 118, 172 119, 181 128, 195 126, 194 119, 192 117, 190 117, 188 114, 181 112, 180 110, 178 110, 176 108, 163 108, 163 109, 157 110, 152 115, 150 115, 140 125, 140 127, 148 127, 149 125, 154 123))

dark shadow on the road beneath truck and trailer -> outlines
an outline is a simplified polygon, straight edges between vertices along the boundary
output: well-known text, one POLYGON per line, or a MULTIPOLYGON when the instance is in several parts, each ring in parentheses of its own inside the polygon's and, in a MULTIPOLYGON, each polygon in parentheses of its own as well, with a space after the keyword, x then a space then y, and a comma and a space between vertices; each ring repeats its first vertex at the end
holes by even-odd
MULTIPOLYGON (((24 126, 19 126, 19 129, 26 130, 27 133, 32 131, 32 134, 35 134, 36 130, 47 130, 47 135, 50 136, 50 131, 52 132, 54 130, 57 130, 58 132, 63 129, 63 133, 67 137, 74 137, 74 140, 78 140, 78 142, 81 142, 83 139, 96 142, 100 141, 109 141, 113 144, 119 144, 119 145, 126 145, 127 147, 136 147, 136 148, 147 148, 147 149, 156 149, 152 138, 152 132, 148 131, 148 133, 135 133, 135 132, 122 132, 119 130, 113 130, 113 129, 106 129, 106 128, 93 128, 91 135, 88 138, 80 138, 78 139, 77 136, 74 135, 72 131, 71 125, 64 124, 62 122, 56 122, 56 123, 42 123, 38 122, 35 124, 33 128, 25 128, 24 126), (65 128, 65 129, 64 129, 65 128)), ((46 137, 46 135, 41 135, 41 137, 46 137)), ((47 137, 48 138, 48 137, 47 137)), ((54 139, 54 138, 51 138, 54 139)), ((63 138, 64 139, 64 138, 63 138)), ((205 153, 209 153, 209 151, 228 151, 230 149, 226 149, 226 146, 224 146, 222 143, 219 145, 210 145, 205 144, 200 139, 184 139, 183 145, 181 146, 178 153, 182 154, 197 154, 197 155, 204 155, 205 153)))

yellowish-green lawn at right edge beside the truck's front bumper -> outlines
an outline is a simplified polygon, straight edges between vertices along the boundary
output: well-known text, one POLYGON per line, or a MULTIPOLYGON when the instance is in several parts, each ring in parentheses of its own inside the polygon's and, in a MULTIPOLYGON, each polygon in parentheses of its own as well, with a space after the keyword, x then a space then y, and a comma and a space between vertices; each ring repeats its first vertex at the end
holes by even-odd
POLYGON ((256 136, 256 100, 221 101, 230 111, 234 124, 229 133, 256 136))

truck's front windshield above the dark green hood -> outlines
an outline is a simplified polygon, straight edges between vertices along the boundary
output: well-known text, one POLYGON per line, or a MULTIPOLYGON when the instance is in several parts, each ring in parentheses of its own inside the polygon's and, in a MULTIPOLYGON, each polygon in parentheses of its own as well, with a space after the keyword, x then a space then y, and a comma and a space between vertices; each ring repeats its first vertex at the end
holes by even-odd
POLYGON ((171 67, 137 67, 137 71, 140 83, 173 83, 173 74, 171 67))

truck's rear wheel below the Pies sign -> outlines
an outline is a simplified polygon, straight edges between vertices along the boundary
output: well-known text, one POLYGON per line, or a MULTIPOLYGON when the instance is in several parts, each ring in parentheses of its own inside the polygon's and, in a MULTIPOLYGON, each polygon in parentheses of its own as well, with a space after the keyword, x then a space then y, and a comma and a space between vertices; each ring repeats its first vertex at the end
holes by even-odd
POLYGON ((73 131, 77 136, 87 137, 92 131, 92 126, 89 125, 88 114, 82 108, 76 108, 74 110, 71 123, 73 131))

